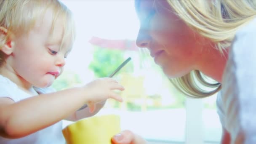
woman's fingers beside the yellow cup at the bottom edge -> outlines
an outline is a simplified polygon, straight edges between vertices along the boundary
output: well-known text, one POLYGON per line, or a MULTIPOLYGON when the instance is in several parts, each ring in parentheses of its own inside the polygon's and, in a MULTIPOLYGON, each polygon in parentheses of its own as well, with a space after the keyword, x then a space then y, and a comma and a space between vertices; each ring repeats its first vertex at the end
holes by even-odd
POLYGON ((112 137, 112 144, 147 144, 141 136, 125 130, 112 137))

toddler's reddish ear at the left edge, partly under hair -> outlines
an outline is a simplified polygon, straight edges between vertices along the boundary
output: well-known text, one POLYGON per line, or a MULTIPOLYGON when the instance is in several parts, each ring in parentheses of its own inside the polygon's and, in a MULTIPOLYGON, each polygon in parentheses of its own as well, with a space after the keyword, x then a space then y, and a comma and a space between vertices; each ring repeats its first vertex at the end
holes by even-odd
MULTIPOLYGON (((3 37, 3 35, 7 35, 7 29, 0 27, 0 37, 3 37)), ((13 41, 10 39, 3 44, 1 51, 3 51, 6 55, 10 55, 13 52, 13 41)))

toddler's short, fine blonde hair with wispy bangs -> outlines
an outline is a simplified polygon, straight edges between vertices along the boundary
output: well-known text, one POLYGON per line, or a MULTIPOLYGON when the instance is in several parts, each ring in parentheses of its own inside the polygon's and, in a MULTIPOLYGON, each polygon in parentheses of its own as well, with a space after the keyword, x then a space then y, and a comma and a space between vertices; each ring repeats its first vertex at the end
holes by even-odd
MULTIPOLYGON (((35 27, 38 19, 42 19, 47 10, 52 10, 53 32, 57 19, 64 24, 64 35, 61 46, 67 37, 71 42, 75 40, 75 24, 71 11, 59 0, 0 0, 0 27, 7 29, 7 33, 0 31, 0 49, 8 42, 11 35, 26 34, 35 27)), ((5 62, 5 53, 0 51, 0 66, 5 62)))

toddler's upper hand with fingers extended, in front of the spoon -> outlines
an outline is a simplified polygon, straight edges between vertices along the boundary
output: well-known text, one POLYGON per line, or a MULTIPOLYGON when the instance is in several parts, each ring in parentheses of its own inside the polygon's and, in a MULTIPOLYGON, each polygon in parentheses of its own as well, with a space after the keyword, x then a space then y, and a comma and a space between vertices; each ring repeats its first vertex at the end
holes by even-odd
POLYGON ((122 97, 117 95, 113 90, 123 91, 124 88, 113 78, 104 77, 96 79, 85 85, 84 88, 87 96, 86 103, 90 108, 90 112, 94 111, 95 104, 106 99, 111 98, 120 102, 123 101, 122 97))

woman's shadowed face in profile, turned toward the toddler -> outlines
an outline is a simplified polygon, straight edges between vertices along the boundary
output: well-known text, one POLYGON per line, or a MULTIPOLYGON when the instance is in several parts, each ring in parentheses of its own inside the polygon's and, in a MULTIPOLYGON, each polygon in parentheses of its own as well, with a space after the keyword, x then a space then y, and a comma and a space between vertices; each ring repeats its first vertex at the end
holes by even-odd
POLYGON ((165 0, 140 0, 141 22, 136 44, 148 48, 168 77, 181 77, 200 63, 202 37, 189 28, 165 0))

